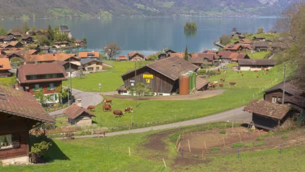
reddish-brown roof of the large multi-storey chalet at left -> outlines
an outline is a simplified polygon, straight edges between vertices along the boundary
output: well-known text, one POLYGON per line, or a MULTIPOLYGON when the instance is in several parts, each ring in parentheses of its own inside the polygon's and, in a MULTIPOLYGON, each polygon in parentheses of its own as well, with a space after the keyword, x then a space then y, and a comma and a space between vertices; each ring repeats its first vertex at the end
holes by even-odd
POLYGON ((34 83, 45 81, 68 80, 64 66, 57 63, 24 64, 17 69, 17 77, 20 83, 34 83), (29 75, 62 74, 62 77, 28 79, 29 75))

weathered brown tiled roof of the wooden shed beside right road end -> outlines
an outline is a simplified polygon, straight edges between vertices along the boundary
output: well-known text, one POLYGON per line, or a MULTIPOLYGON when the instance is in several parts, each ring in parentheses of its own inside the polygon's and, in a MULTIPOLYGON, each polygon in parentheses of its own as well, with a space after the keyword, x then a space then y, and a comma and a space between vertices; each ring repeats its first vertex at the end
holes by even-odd
POLYGON ((243 110, 281 120, 289 112, 290 107, 264 100, 252 100, 243 110))

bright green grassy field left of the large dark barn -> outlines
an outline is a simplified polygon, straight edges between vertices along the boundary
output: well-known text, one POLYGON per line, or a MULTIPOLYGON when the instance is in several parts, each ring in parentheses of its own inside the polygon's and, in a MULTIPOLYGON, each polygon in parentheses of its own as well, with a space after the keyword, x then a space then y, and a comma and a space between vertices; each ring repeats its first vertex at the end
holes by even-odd
MULTIPOLYGON (((123 84, 123 80, 120 75, 125 72, 134 69, 134 62, 116 62, 116 61, 104 61, 107 64, 113 65, 113 68, 106 68, 105 71, 97 73, 88 73, 86 77, 72 78, 72 88, 86 91, 86 92, 99 92, 98 83, 102 84, 101 92, 115 91, 123 84)), ((150 63, 149 61, 137 62, 137 67, 150 63)), ((67 86, 70 80, 63 81, 63 85, 67 86)))

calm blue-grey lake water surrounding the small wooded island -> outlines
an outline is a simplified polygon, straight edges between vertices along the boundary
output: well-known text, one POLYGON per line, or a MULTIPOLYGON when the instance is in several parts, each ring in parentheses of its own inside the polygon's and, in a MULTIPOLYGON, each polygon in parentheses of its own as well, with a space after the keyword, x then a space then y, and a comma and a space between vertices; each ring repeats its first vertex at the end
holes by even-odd
MULTIPOLYGON (((269 31, 276 22, 276 17, 260 18, 214 18, 214 17, 168 17, 168 18, 112 18, 98 19, 37 19, 29 20, 30 26, 38 29, 52 28, 59 24, 67 25, 72 36, 87 38, 88 50, 101 50, 106 43, 116 42, 122 47, 121 54, 139 51, 149 55, 169 47, 177 52, 184 52, 188 45, 189 52, 200 52, 206 48, 215 48, 213 42, 222 34, 230 34, 233 27, 239 32, 253 32, 257 28, 269 31), (197 23, 196 34, 186 34, 186 22, 197 23)), ((0 21, 0 26, 7 29, 22 26, 22 20, 0 21)))

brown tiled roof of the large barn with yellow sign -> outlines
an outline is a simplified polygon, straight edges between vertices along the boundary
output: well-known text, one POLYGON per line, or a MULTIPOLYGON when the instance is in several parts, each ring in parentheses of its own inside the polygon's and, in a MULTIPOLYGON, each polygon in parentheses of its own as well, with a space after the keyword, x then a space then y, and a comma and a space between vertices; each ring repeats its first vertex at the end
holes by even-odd
MULTIPOLYGON (((168 57, 168 58, 156 61, 154 63, 146 64, 143 67, 149 67, 149 68, 169 77, 172 80, 179 79, 179 76, 181 74, 184 74, 189 71, 195 71, 198 69, 198 66, 196 66, 196 65, 192 64, 191 62, 186 61, 183 58, 180 58, 178 56, 168 57)), ((141 68, 143 68, 143 67, 141 67, 141 68)), ((126 75, 133 71, 134 70, 131 70, 123 75, 126 75)), ((123 75, 121 75, 121 76, 123 76, 123 75)))

